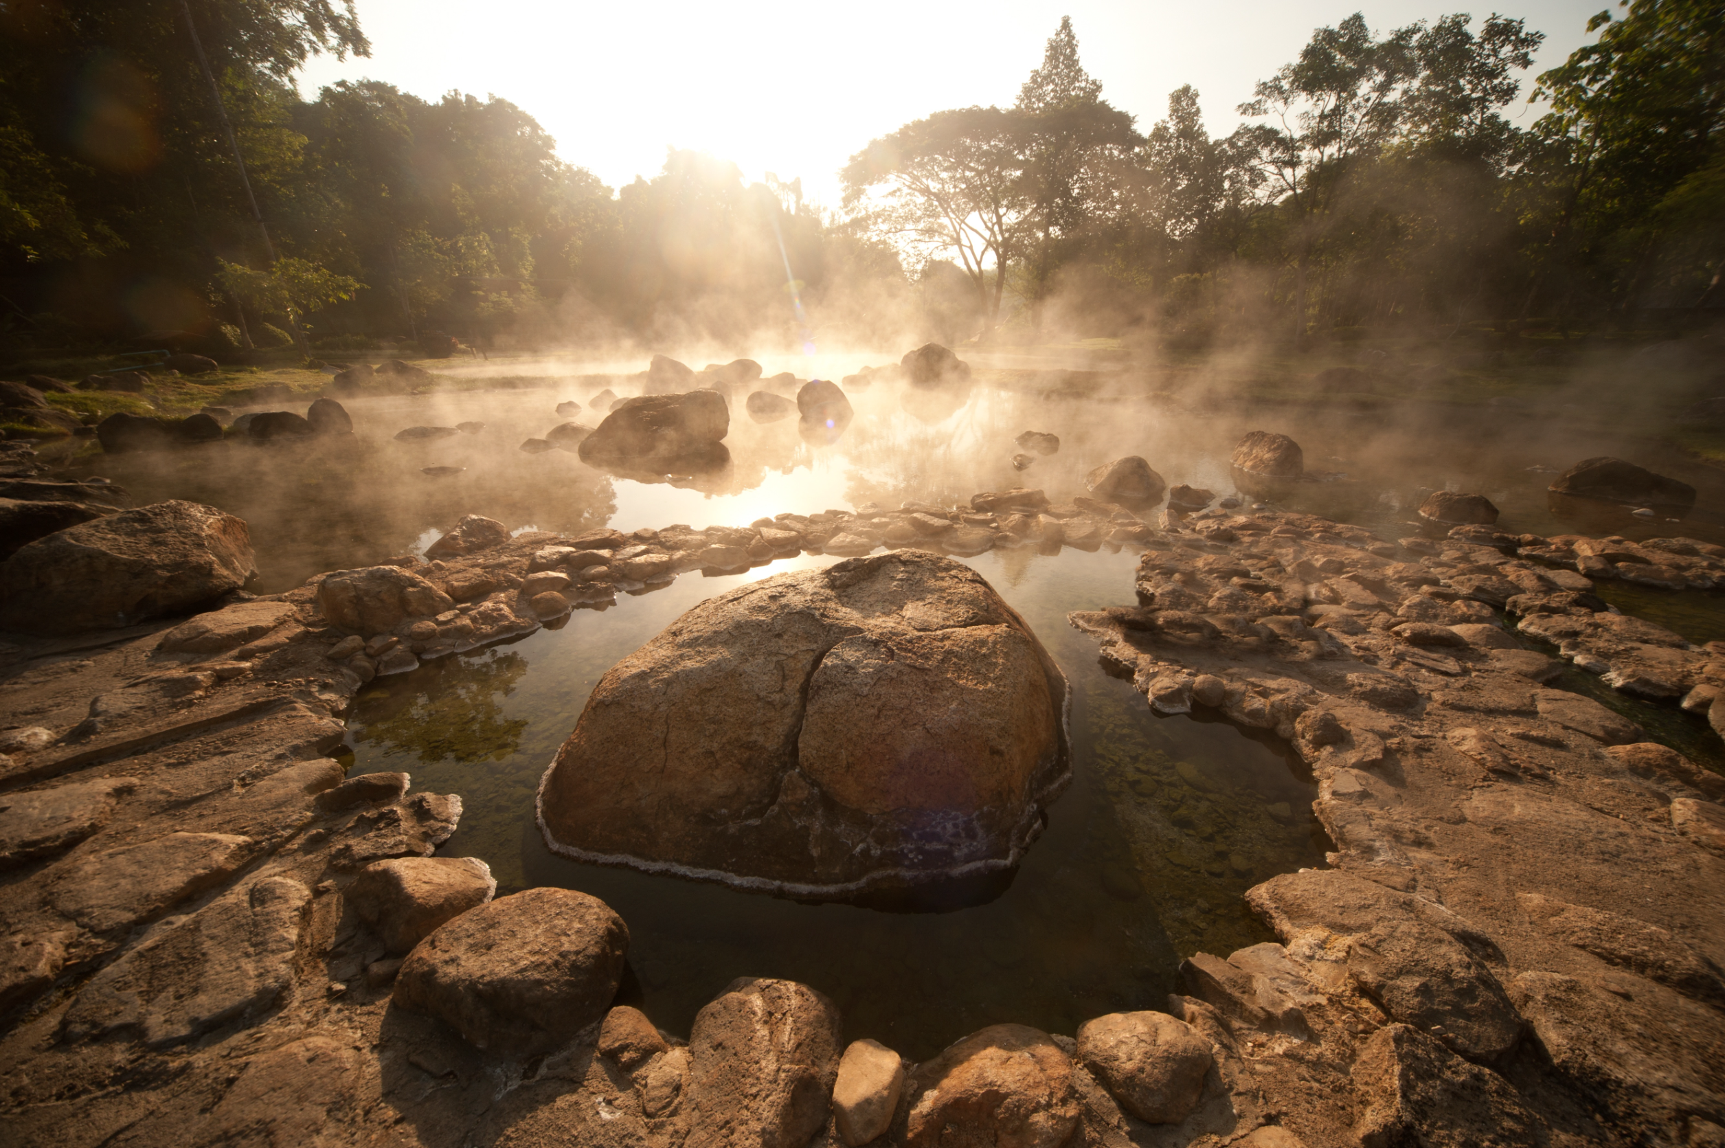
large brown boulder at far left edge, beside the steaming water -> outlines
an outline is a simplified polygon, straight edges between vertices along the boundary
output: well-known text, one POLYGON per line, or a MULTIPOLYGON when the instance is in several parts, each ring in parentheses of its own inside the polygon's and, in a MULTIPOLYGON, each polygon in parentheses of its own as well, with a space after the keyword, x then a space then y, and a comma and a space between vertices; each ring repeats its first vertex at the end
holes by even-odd
POLYGON ((155 502, 21 547, 0 565, 0 627, 129 627, 207 606, 255 573, 243 520, 198 502, 155 502))

